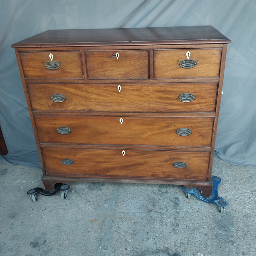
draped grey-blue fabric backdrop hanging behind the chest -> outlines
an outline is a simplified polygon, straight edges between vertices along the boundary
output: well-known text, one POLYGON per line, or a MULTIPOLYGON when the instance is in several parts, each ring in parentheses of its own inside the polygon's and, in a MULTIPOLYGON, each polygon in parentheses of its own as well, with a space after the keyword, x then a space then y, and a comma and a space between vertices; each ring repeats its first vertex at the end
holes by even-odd
POLYGON ((40 168, 14 49, 48 29, 212 25, 228 45, 216 146, 223 160, 256 166, 255 0, 0 0, 0 162, 40 168))

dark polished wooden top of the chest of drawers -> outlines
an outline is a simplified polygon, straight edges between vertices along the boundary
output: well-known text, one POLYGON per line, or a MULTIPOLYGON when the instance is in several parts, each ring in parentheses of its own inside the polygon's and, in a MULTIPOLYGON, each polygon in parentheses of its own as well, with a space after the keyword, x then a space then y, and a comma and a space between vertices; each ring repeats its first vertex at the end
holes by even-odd
POLYGON ((13 47, 129 45, 129 44, 228 44, 231 41, 212 26, 147 27, 129 29, 47 30, 13 47))

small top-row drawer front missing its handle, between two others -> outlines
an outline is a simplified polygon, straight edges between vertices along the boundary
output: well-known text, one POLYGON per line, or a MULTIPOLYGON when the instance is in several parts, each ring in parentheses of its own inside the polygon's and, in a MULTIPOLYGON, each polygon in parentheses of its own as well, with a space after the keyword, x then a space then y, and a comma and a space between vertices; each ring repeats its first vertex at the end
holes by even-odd
POLYGON ((148 79, 148 50, 85 51, 85 55, 88 79, 148 79))

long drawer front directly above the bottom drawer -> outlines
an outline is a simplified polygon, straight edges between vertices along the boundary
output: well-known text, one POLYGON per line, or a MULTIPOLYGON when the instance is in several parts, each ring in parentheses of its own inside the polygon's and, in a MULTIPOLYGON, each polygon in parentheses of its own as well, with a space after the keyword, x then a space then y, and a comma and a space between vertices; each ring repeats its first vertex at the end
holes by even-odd
POLYGON ((35 116, 40 143, 194 147, 210 147, 213 120, 213 117, 35 116))

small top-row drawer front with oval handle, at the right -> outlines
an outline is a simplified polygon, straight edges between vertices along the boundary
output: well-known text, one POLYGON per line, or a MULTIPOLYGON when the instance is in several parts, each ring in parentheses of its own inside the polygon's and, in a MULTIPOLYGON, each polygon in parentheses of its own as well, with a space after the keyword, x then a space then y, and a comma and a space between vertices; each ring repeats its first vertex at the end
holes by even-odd
POLYGON ((221 53, 221 49, 155 50, 154 78, 219 77, 221 53))

